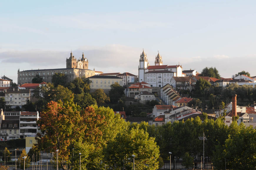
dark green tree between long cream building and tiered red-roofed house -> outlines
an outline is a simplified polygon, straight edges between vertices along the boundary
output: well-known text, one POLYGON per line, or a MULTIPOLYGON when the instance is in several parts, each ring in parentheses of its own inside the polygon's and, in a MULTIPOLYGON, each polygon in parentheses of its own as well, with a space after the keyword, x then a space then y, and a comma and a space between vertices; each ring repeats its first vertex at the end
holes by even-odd
POLYGON ((124 87, 120 86, 117 82, 112 84, 109 91, 109 98, 111 103, 117 103, 118 100, 124 95, 124 87))

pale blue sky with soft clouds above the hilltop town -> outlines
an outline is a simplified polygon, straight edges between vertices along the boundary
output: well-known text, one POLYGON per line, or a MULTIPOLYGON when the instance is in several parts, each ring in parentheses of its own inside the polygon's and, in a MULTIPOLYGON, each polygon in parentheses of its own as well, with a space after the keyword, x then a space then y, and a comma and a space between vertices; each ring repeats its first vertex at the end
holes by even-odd
POLYGON ((138 75, 142 49, 150 65, 222 77, 256 76, 256 1, 0 1, 0 74, 65 68, 84 52, 89 69, 138 75))

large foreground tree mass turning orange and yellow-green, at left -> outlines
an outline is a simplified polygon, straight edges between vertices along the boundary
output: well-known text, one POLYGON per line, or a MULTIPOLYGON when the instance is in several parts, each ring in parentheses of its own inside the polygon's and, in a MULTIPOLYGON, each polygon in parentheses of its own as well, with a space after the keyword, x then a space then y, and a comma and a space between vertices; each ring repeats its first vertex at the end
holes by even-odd
POLYGON ((94 105, 81 109, 72 102, 61 101, 49 102, 38 123, 42 135, 37 134, 37 147, 47 152, 59 149, 59 165, 64 170, 77 169, 78 153, 82 153, 82 169, 99 169, 98 164, 87 163, 100 162, 103 147, 127 127, 110 108, 94 105))

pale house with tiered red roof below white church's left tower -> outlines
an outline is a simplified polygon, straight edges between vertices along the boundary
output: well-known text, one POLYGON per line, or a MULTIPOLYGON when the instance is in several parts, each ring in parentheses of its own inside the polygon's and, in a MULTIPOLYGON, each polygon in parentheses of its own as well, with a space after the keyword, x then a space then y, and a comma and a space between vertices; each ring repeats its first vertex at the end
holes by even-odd
POLYGON ((147 84, 143 81, 140 83, 138 82, 138 83, 130 85, 128 87, 128 90, 125 89, 125 94, 128 97, 133 97, 133 96, 141 94, 142 91, 147 91, 147 92, 152 93, 152 87, 150 87, 150 84, 147 84))

